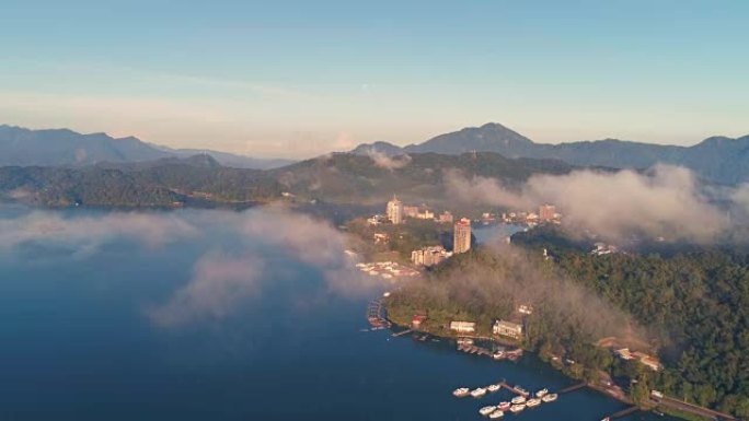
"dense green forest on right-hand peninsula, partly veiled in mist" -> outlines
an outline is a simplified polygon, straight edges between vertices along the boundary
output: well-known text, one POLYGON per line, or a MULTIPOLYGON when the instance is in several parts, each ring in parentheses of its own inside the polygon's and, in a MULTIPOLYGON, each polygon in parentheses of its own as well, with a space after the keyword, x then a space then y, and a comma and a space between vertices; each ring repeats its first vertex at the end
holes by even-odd
POLYGON ((748 254, 689 247, 681 254, 592 256, 578 242, 551 239, 549 233, 520 234, 514 243, 521 247, 480 247, 458 256, 424 282, 395 292, 389 312, 404 323, 427 312, 426 328, 437 330, 450 319, 471 319, 486 334, 494 319, 531 303, 537 311, 526 320, 523 346, 545 360, 576 361, 562 367, 567 374, 592 379, 602 371, 635 379, 630 394, 636 401, 659 389, 749 417, 748 254), (627 330, 658 352, 665 370, 623 362, 595 346, 627 330))

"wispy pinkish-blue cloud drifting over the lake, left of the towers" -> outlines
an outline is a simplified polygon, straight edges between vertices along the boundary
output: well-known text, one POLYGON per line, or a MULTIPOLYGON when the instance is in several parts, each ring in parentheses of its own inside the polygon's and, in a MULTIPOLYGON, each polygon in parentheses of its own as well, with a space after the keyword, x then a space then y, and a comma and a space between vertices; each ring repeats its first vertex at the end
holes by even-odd
POLYGON ((240 255, 211 254, 200 259, 185 286, 148 311, 159 326, 224 318, 242 305, 252 305, 252 299, 268 283, 295 282, 304 268, 322 274, 321 294, 356 296, 380 285, 372 277, 355 270, 356 260, 345 253, 352 239, 327 222, 283 207, 267 207, 227 215, 222 223, 230 224, 250 244, 240 255))

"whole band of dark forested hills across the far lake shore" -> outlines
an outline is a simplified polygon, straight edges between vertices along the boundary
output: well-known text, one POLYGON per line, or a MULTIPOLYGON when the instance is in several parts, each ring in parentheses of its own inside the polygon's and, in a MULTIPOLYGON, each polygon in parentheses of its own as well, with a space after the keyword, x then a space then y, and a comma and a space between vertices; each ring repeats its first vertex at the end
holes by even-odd
POLYGON ((0 167, 0 198, 43 206, 181 206, 198 199, 266 201, 287 191, 309 200, 362 203, 384 201, 393 192, 443 199, 443 179, 451 169, 510 185, 535 173, 573 169, 561 161, 508 160, 496 153, 414 154, 393 165, 342 153, 269 171, 226 167, 206 154, 85 167, 9 166, 0 167))

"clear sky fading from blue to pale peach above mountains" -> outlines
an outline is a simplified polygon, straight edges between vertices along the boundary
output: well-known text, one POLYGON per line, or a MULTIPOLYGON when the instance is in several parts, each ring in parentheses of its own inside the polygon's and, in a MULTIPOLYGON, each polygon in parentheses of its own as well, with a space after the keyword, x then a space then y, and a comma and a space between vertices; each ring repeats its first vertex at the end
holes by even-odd
POLYGON ((309 157, 749 133, 749 1, 5 0, 0 124, 309 157))

